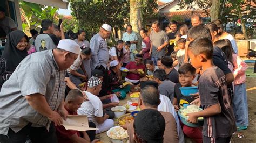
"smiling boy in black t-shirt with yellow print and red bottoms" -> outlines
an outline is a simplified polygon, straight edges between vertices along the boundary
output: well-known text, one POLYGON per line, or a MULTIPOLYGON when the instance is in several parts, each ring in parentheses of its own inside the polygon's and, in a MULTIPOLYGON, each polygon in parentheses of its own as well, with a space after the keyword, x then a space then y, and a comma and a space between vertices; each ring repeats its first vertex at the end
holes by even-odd
MULTIPOLYGON (((182 108, 184 104, 190 104, 194 101, 193 96, 187 97, 183 96, 180 91, 180 87, 191 87, 192 81, 195 77, 196 69, 190 63, 184 63, 179 67, 179 83, 174 86, 174 98, 173 98, 173 106, 178 111, 179 108, 182 108)), ((202 140, 202 131, 198 127, 189 127, 181 123, 181 127, 183 129, 183 133, 187 135, 187 137, 193 139, 195 142, 200 143, 202 140)))

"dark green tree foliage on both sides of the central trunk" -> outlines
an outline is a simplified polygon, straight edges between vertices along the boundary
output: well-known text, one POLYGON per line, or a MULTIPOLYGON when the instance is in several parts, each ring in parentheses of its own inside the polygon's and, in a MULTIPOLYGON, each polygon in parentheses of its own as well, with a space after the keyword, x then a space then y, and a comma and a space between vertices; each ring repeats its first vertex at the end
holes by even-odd
MULTIPOLYGON (((75 29, 85 30, 87 38, 90 38, 93 32, 98 32, 104 23, 124 30, 124 25, 130 21, 129 1, 70 1, 70 5, 72 16, 76 18, 75 29)), ((142 1, 143 19, 155 16, 156 8, 156 0, 142 1)))

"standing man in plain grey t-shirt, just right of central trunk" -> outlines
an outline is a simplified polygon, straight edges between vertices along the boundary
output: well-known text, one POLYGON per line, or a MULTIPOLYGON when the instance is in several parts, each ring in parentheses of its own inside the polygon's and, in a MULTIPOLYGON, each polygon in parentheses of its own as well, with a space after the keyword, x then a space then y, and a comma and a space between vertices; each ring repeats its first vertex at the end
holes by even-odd
POLYGON ((150 34, 151 47, 149 54, 154 65, 157 65, 157 59, 165 55, 165 46, 169 44, 169 38, 166 33, 160 29, 158 21, 152 23, 153 31, 150 34))

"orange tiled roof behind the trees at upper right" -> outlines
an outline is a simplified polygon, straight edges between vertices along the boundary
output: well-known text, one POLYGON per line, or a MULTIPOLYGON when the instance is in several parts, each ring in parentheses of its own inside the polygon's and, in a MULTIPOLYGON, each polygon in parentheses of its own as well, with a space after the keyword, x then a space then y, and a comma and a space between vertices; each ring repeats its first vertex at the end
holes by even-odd
POLYGON ((170 13, 163 13, 163 15, 167 16, 169 18, 171 18, 175 15, 178 15, 178 16, 184 18, 184 19, 188 19, 188 18, 191 18, 194 13, 200 14, 201 17, 210 17, 210 13, 208 15, 206 15, 205 12, 202 11, 202 10, 197 10, 197 11, 175 11, 175 12, 170 12, 170 13))

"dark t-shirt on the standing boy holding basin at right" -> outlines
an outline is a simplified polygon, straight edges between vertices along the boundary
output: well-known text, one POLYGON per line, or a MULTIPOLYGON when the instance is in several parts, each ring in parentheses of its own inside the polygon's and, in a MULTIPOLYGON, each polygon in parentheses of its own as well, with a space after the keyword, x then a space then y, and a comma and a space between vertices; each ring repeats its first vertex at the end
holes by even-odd
POLYGON ((204 117, 203 135, 213 138, 230 137, 235 132, 235 117, 226 77, 217 66, 207 68, 198 81, 198 90, 203 110, 211 105, 220 104, 219 114, 204 117))

